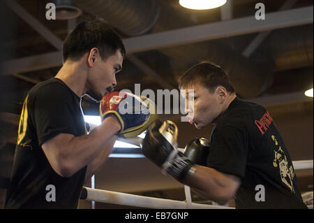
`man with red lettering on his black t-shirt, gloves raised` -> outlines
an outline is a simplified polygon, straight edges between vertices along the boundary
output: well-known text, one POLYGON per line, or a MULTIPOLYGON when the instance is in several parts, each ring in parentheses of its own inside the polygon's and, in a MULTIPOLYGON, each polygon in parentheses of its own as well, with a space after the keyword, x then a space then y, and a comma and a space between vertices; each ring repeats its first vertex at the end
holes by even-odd
POLYGON ((207 154, 196 144, 186 148, 207 159, 200 164, 176 150, 177 127, 171 121, 156 122, 147 132, 142 151, 148 159, 222 205, 234 198, 236 208, 307 208, 289 152, 265 108, 239 99, 227 74, 209 62, 186 71, 179 87, 186 90, 190 123, 197 129, 215 124, 207 154))

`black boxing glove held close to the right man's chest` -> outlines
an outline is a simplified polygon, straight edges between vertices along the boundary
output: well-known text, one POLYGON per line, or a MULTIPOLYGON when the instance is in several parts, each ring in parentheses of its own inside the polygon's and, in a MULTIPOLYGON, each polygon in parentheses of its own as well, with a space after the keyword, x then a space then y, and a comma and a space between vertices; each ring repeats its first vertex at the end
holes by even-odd
POLYGON ((195 164, 200 166, 207 166, 209 140, 207 138, 193 139, 193 141, 190 141, 186 145, 186 148, 184 148, 184 154, 195 164))

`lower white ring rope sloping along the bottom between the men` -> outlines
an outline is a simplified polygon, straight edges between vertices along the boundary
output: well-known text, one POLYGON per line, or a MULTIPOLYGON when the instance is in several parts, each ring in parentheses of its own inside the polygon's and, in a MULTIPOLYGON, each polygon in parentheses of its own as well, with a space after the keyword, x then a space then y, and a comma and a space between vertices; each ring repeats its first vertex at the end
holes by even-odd
POLYGON ((110 192, 103 189, 91 189, 89 187, 84 187, 84 189, 87 189, 87 201, 111 203, 121 206, 133 206, 153 209, 234 209, 225 206, 212 206, 193 202, 191 202, 190 206, 188 206, 186 201, 157 199, 149 196, 139 196, 121 192, 110 192))

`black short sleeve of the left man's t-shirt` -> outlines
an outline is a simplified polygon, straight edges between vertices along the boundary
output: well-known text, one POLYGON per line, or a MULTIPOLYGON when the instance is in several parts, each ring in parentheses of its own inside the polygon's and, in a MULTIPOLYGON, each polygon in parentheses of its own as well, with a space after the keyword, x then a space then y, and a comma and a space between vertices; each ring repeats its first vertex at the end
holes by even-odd
POLYGON ((58 134, 75 135, 75 111, 69 89, 47 85, 33 96, 33 120, 41 146, 58 134))

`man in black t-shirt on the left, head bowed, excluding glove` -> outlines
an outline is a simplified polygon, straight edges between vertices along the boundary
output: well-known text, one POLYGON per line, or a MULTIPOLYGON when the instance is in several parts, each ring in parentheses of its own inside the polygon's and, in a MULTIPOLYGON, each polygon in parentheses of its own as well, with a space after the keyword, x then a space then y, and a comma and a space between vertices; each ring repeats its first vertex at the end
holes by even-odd
POLYGON ((108 115, 87 134, 80 105, 112 92, 126 50, 105 20, 82 21, 63 43, 57 75, 24 100, 5 208, 77 208, 84 181, 112 151, 119 120, 108 115))

